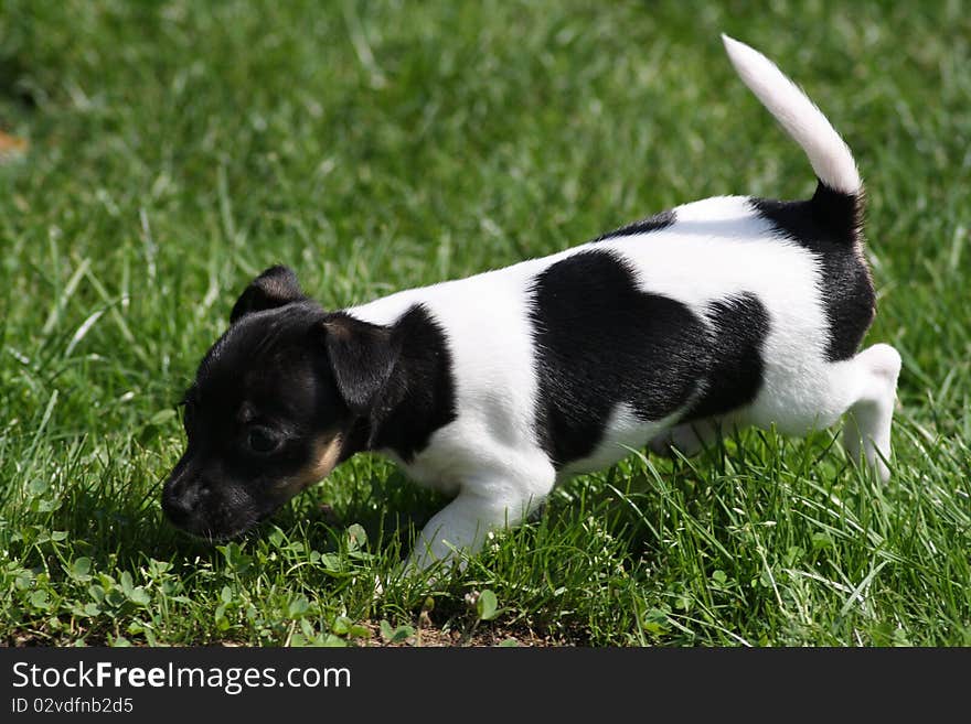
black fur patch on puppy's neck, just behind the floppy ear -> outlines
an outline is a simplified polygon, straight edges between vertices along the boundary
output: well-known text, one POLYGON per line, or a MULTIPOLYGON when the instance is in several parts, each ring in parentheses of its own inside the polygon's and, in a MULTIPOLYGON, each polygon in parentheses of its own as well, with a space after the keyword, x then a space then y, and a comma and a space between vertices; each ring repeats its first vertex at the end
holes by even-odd
POLYGON ((451 353, 441 327, 422 305, 410 307, 391 336, 398 359, 375 402, 367 446, 391 449, 410 462, 436 430, 457 417, 451 353))

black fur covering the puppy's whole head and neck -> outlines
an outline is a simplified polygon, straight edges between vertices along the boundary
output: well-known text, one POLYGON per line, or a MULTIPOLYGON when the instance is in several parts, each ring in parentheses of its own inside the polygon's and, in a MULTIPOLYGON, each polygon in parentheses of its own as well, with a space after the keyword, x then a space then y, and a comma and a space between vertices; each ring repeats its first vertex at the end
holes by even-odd
POLYGON ((456 418, 445 334, 424 307, 392 326, 327 313, 286 267, 239 295, 184 406, 188 445, 162 508, 212 538, 252 528, 321 464, 369 449, 409 461, 456 418))

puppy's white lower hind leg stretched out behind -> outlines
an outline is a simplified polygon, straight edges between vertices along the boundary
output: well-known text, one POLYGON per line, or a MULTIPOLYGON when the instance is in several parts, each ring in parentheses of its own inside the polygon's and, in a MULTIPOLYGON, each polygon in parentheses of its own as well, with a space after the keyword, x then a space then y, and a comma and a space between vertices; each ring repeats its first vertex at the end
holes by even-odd
POLYGON ((858 391, 847 411, 843 445, 854 463, 860 462, 862 453, 866 464, 886 483, 890 477, 885 461, 890 458, 890 423, 900 354, 889 345, 874 345, 853 358, 853 368, 858 376, 858 391))

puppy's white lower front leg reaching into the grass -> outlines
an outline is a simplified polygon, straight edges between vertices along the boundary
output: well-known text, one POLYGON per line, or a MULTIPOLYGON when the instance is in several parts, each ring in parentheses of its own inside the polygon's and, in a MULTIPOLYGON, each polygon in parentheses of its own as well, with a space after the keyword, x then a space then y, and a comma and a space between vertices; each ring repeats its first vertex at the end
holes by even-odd
POLYGON ((490 531, 519 526, 542 503, 542 497, 494 497, 462 490, 439 510, 422 530, 408 559, 408 569, 426 569, 460 553, 481 550, 490 531))

